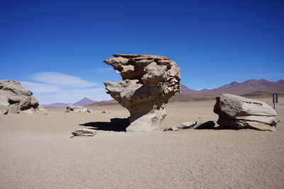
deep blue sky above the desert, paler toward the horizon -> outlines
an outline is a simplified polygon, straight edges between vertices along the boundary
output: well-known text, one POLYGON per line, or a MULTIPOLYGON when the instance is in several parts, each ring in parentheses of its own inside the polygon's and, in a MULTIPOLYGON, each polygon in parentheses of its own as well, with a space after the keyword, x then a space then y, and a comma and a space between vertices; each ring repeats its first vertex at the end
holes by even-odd
POLYGON ((102 62, 114 53, 170 57, 194 89, 284 79, 284 1, 0 0, 0 79, 41 103, 107 98, 88 92, 120 80, 102 62))

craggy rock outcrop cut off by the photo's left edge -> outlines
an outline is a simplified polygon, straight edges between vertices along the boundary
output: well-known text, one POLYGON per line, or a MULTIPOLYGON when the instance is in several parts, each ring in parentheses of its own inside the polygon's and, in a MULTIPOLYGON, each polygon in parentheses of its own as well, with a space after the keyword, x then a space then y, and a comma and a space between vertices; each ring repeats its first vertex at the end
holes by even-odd
POLYGON ((0 80, 0 114, 31 114, 43 110, 32 95, 33 93, 23 88, 18 81, 0 80))

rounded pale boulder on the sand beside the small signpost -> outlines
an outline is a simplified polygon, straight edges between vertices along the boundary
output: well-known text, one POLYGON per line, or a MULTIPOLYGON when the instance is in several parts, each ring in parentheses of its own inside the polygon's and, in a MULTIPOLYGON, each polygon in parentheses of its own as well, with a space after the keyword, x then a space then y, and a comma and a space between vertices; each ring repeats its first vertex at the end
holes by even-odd
POLYGON ((223 127, 254 128, 275 131, 278 120, 275 110, 268 104, 250 98, 223 93, 217 96, 214 113, 223 127))

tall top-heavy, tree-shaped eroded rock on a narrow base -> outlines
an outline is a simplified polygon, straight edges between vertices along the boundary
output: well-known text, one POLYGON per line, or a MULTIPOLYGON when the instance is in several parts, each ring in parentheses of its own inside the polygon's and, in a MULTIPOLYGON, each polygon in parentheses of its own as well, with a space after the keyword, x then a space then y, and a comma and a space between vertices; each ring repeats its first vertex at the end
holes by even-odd
POLYGON ((107 93, 129 110, 131 125, 126 131, 160 130, 165 104, 180 92, 180 68, 168 57, 114 55, 106 64, 121 74, 123 81, 105 81, 107 93))

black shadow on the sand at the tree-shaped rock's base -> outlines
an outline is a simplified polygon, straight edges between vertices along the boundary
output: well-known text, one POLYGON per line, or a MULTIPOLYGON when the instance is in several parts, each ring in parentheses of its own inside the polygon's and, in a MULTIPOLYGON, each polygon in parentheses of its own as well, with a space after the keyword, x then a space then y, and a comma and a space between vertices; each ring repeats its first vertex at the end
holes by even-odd
POLYGON ((110 122, 86 122, 80 125, 84 127, 91 127, 89 129, 92 130, 126 132, 126 127, 130 124, 129 120, 126 118, 113 118, 110 122))

